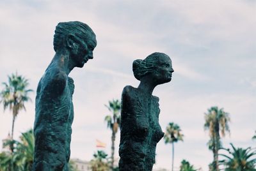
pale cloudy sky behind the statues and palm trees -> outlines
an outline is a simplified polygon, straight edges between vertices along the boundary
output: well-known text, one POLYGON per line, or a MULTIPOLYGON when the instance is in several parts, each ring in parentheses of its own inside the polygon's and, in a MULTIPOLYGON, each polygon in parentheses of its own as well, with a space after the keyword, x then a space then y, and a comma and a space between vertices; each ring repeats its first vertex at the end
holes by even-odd
MULTIPOLYGON (((120 99, 125 85, 137 87, 132 62, 153 52, 173 61, 172 82, 159 85, 159 123, 179 124, 184 142, 175 144, 175 168, 182 159, 208 170, 212 152, 204 131, 207 108, 224 108, 231 117, 224 147, 255 147, 256 130, 256 1, 0 1, 0 82, 19 73, 36 90, 54 56, 58 22, 78 20, 97 36, 94 58, 70 73, 74 78, 74 123, 71 158, 89 161, 96 139, 107 144, 104 105, 120 99)), ((1 86, 1 89, 3 86, 1 86)), ((15 121, 14 138, 33 128, 35 95, 15 121)), ((12 128, 12 112, 0 106, 0 141, 12 128)), ((118 158, 120 131, 115 142, 118 158)), ((1 147, 1 146, 0 146, 1 147)), ((171 168, 172 146, 157 144, 154 168, 171 168)))

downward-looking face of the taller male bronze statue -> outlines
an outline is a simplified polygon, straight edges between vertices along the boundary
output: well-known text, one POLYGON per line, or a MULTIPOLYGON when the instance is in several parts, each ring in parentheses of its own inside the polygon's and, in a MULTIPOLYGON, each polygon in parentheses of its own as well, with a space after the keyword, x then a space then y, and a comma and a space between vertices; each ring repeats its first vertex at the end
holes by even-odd
POLYGON ((72 59, 77 67, 82 68, 89 59, 93 59, 93 50, 97 45, 96 42, 95 36, 91 36, 87 40, 80 40, 78 45, 74 45, 72 59))

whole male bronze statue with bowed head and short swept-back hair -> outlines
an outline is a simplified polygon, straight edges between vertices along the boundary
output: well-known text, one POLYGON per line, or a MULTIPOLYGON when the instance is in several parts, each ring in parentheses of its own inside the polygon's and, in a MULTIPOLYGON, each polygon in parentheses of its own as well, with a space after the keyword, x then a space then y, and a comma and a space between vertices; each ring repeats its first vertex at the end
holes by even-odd
POLYGON ((92 29, 82 22, 60 22, 54 34, 56 52, 36 91, 33 170, 68 170, 74 118, 70 71, 93 59, 97 45, 92 29))

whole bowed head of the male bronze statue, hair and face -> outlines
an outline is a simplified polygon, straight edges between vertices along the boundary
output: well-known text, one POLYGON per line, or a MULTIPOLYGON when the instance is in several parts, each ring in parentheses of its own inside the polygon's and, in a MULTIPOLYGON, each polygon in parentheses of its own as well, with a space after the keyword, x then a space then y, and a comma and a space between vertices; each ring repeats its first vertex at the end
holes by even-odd
POLYGON ((67 49, 70 59, 77 67, 83 67, 93 59, 93 49, 97 45, 95 33, 83 22, 60 22, 55 29, 53 40, 55 52, 67 49))

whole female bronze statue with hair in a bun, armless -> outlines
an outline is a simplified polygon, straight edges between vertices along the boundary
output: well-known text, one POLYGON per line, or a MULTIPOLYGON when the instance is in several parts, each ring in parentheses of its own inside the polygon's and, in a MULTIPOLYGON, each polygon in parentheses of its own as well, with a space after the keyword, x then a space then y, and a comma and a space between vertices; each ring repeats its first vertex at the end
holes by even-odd
POLYGON ((152 170, 156 145, 164 133, 159 125, 159 98, 152 96, 154 88, 172 80, 169 56, 155 52, 132 64, 138 88, 124 87, 121 109, 121 138, 119 146, 120 171, 152 170))

